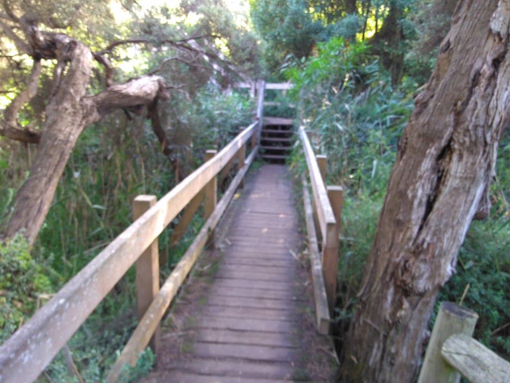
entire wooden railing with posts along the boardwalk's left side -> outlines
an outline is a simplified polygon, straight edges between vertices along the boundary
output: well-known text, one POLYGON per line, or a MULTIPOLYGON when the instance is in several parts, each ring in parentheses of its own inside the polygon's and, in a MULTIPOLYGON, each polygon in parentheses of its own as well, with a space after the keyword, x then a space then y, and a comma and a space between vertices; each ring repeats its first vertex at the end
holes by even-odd
MULTIPOLYGON (((260 137, 262 126, 261 100, 257 107, 257 120, 243 129, 219 153, 208 151, 206 162, 168 194, 159 201, 156 201, 155 196, 139 196, 135 199, 133 224, 67 282, 0 347, 2 383, 34 381, 135 262, 137 306, 141 319, 110 371, 108 381, 113 383, 117 380, 125 363, 134 364, 138 353, 145 349, 153 337, 151 346, 157 351, 158 328, 165 310, 257 155, 257 137, 260 137), (251 153, 245 159, 246 142, 250 139, 251 153), (233 158, 238 158, 239 161, 237 175, 217 203, 217 175, 229 162, 232 165, 233 158), (190 212, 185 211, 182 217, 189 223, 202 198, 205 198, 206 223, 159 289, 158 236, 187 206, 190 212)), ((175 240, 174 236, 173 241, 175 240)))

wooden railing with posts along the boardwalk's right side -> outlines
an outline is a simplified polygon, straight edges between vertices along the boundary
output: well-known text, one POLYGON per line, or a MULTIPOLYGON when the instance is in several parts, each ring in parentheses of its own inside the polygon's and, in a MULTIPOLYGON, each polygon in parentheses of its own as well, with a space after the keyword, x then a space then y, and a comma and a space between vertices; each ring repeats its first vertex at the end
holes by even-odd
POLYGON ((315 155, 303 127, 299 129, 299 138, 307 161, 313 192, 311 200, 308 183, 303 175, 301 182, 314 284, 317 328, 321 333, 328 333, 330 318, 334 317, 337 290, 339 230, 343 203, 342 187, 325 185, 326 157, 315 155), (319 251, 317 231, 322 238, 322 252, 319 251))

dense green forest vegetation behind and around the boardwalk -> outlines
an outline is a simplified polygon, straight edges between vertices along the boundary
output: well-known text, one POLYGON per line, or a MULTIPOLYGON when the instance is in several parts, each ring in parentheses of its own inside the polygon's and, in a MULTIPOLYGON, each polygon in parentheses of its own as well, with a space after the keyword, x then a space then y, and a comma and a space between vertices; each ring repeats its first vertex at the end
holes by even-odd
MULTIPOLYGON (((206 149, 221 148, 250 123, 248 94, 229 90, 248 78, 291 81, 281 107, 266 114, 297 117, 315 132, 316 151, 327 154, 328 177, 344 185, 336 308, 337 347, 352 317, 380 207, 385 198, 399 137, 413 101, 431 74, 439 44, 449 29, 455 1, 251 0, 183 1, 151 7, 135 2, 73 0, 4 1, 0 6, 0 215, 5 226, 15 196, 30 175, 37 143, 12 139, 9 105, 30 82, 33 60, 19 52, 15 18, 28 15, 41 30, 64 33, 104 52, 96 59, 89 94, 146 74, 164 79, 169 98, 160 102, 160 125, 136 110, 118 108, 78 138, 33 244, 22 235, 0 245, 0 341, 27 320, 50 294, 87 264, 131 222, 139 194, 164 195, 203 162, 206 149), (30 10, 30 12, 29 12, 30 10), (107 76, 107 68, 112 74, 107 76)), ((16 123, 37 133, 52 97, 55 60, 44 60, 37 94, 17 113, 16 123)), ((271 97, 271 95, 269 96, 271 97)), ((456 273, 439 300, 459 301, 480 320, 475 338, 510 359, 510 133, 500 143, 491 186, 489 217, 474 221, 458 256, 456 273)), ((289 159, 298 173, 298 150, 289 159)), ((185 240, 169 246, 164 279, 202 222, 185 240)), ((101 381, 136 325, 134 273, 127 274, 94 311, 68 346, 85 381, 101 381)), ((433 318, 432 318, 433 320, 433 318)), ((146 351, 132 376, 154 362, 146 351)), ((68 381, 64 355, 41 381, 68 381)))

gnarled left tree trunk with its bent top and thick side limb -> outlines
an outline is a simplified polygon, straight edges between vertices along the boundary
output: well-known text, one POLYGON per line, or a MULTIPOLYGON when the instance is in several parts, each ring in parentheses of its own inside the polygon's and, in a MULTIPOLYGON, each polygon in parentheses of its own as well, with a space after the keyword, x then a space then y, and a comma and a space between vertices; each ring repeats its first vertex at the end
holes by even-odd
POLYGON ((57 33, 38 32, 27 52, 33 57, 57 59, 52 98, 45 110, 37 156, 30 176, 19 189, 4 237, 23 231, 33 243, 44 222, 69 155, 84 128, 106 114, 124 108, 141 113, 155 100, 168 99, 163 80, 144 76, 109 86, 87 96, 92 53, 80 41, 57 33), (65 75, 64 67, 67 66, 65 75))

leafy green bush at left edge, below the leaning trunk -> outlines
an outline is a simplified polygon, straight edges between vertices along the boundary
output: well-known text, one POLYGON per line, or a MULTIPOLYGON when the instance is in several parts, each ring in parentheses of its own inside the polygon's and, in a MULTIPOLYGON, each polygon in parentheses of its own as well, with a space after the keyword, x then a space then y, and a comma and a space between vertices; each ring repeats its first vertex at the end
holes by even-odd
POLYGON ((22 235, 0 243, 0 343, 35 312, 39 294, 53 292, 43 265, 22 235))

